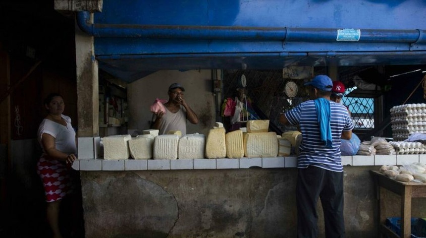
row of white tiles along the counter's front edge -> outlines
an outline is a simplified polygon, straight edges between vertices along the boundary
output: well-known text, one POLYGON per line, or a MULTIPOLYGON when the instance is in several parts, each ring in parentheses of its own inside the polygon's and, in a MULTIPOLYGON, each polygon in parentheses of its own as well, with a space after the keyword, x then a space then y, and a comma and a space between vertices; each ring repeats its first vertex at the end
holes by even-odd
MULTIPOLYGON (((343 166, 403 165, 426 163, 425 155, 342 156, 343 166)), ((296 168, 297 157, 266 157, 240 159, 185 159, 185 160, 104 160, 78 159, 72 167, 81 171, 135 171, 135 170, 219 170, 248 168, 296 168)))

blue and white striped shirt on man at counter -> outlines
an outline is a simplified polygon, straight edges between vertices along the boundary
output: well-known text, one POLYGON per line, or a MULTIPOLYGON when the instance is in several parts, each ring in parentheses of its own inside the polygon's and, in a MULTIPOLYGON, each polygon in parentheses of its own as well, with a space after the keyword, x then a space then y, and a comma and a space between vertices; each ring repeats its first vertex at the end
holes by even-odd
POLYGON ((314 100, 303 102, 285 113, 290 124, 299 126, 302 132, 297 168, 304 169, 312 165, 325 170, 343 172, 340 137, 342 131, 352 130, 354 123, 348 109, 332 101, 330 101, 330 115, 332 148, 326 148, 320 139, 320 126, 314 100))

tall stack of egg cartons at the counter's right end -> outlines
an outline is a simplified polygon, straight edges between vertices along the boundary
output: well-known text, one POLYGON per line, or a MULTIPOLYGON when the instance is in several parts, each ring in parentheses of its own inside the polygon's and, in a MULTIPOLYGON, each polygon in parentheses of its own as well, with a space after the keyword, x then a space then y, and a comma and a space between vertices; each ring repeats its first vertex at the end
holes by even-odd
POLYGON ((390 109, 392 136, 403 141, 413 133, 426 133, 426 104, 405 104, 390 109))

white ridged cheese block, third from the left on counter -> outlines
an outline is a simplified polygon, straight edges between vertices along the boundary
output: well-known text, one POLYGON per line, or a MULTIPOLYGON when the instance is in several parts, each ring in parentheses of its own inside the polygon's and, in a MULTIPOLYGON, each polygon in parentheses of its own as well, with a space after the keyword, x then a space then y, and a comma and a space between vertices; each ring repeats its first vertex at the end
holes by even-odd
POLYGON ((177 159, 178 135, 159 135, 154 139, 154 159, 175 160, 177 159))

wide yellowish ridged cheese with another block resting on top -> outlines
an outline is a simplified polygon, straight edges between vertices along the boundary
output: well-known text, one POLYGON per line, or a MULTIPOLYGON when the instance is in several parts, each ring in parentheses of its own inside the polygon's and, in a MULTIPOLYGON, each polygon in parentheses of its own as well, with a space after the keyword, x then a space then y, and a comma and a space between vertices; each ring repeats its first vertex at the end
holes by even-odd
POLYGON ((275 132, 247 132, 244 136, 246 157, 276 157, 278 142, 275 132))

